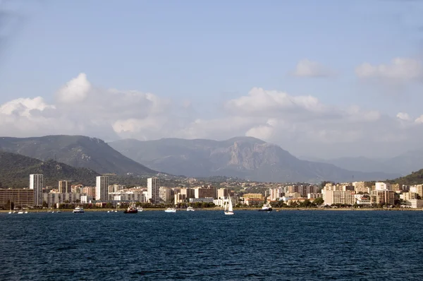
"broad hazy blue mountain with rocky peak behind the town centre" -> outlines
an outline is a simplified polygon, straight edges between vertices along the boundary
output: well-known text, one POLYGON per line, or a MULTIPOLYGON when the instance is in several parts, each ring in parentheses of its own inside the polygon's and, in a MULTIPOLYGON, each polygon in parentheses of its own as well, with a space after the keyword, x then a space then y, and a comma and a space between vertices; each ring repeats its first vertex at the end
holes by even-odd
POLYGON ((109 143, 151 169, 189 177, 239 177, 255 181, 351 181, 393 179, 399 174, 351 172, 299 160, 278 145, 250 137, 229 140, 117 140, 109 143))

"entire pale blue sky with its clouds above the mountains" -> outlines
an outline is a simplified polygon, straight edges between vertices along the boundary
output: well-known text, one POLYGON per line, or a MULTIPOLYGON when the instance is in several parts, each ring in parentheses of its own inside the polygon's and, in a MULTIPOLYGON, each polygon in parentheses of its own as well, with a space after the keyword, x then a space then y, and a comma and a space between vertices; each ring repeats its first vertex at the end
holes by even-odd
POLYGON ((0 136, 422 149, 422 14, 418 0, 0 0, 0 136))

